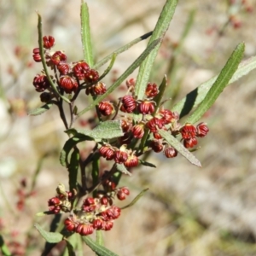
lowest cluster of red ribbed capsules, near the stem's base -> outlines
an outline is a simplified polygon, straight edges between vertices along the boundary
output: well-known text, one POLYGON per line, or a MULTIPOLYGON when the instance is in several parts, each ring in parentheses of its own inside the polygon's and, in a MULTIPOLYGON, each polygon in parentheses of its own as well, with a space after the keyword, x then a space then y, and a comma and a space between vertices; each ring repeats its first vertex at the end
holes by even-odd
MULTIPOLYGON (((58 195, 48 201, 49 212, 71 212, 73 193, 65 191, 62 184, 56 190, 58 195)), ((105 180, 103 190, 98 190, 95 198, 87 197, 82 206, 73 209, 73 214, 65 219, 66 229, 81 236, 90 235, 94 230, 111 230, 113 221, 119 218, 121 213, 121 209, 113 205, 113 199, 117 197, 123 201, 127 195, 130 195, 129 189, 116 188, 113 181, 105 180)))

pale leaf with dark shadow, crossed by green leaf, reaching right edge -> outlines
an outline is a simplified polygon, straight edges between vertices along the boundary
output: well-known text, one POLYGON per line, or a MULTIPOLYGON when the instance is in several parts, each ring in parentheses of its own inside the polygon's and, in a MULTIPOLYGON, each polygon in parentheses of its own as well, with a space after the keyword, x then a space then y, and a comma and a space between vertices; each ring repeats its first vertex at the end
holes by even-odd
MULTIPOLYGON (((239 67, 234 73, 232 79, 230 79, 229 84, 236 82, 241 77, 250 73, 253 69, 256 69, 256 56, 253 56, 246 61, 242 61, 239 67)), ((218 76, 209 79, 207 82, 201 84, 199 87, 195 88, 189 92, 180 102, 172 108, 172 111, 177 111, 180 113, 180 117, 188 114, 192 108, 196 108, 206 97, 207 92, 212 88, 212 84, 216 81, 218 76)))

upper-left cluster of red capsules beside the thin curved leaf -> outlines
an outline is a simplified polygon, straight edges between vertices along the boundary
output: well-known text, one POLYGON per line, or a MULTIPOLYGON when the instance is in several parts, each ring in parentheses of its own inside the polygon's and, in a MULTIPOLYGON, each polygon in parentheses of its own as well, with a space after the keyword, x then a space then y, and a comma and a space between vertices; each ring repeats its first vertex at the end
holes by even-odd
MULTIPOLYGON (((55 38, 44 36, 43 43, 46 65, 53 69, 55 73, 55 79, 53 79, 53 81, 57 84, 57 88, 60 92, 64 91, 67 94, 71 94, 77 92, 85 84, 92 85, 90 89, 85 91, 87 95, 89 93, 103 94, 106 91, 105 84, 96 84, 99 79, 99 73, 95 69, 90 68, 86 62, 77 61, 68 63, 67 55, 63 51, 51 50, 55 45, 55 38), (94 90, 96 90, 96 92, 94 92, 94 90)), ((33 59, 36 62, 42 61, 39 48, 33 49, 33 59)), ((44 92, 44 90, 49 91, 41 94, 42 102, 49 102, 55 97, 55 92, 52 90, 49 79, 44 71, 36 75, 33 79, 33 85, 38 92, 44 92)))

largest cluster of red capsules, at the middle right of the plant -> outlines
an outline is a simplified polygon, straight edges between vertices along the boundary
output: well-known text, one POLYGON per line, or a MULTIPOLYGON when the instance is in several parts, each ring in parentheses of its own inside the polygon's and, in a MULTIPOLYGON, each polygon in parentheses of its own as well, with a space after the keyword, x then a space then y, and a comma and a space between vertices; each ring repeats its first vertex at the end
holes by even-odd
MULTIPOLYGON (((137 101, 133 93, 135 79, 130 79, 126 84, 131 94, 125 95, 119 100, 120 119, 124 136, 119 137, 118 142, 115 142, 115 144, 105 143, 99 148, 100 154, 106 160, 114 160, 114 162, 124 164, 126 167, 137 166, 139 163, 138 156, 141 152, 137 149, 131 150, 129 145, 135 139, 142 139, 145 132, 148 132, 149 136, 145 146, 151 148, 156 153, 164 151, 167 158, 177 156, 177 150, 166 143, 160 136, 159 130, 170 131, 174 137, 181 135, 185 148, 193 148, 197 145, 196 137, 205 137, 207 135, 209 129, 205 123, 200 123, 196 126, 189 123, 180 125, 177 112, 172 112, 165 108, 156 110, 154 99, 159 94, 156 84, 148 83, 145 98, 142 101, 137 101), (141 116, 141 118, 137 120, 132 119, 133 113, 141 116)), ((103 111, 104 115, 106 115, 106 109, 109 109, 109 115, 111 115, 116 108, 113 107, 112 102, 101 102, 99 111, 103 111)))

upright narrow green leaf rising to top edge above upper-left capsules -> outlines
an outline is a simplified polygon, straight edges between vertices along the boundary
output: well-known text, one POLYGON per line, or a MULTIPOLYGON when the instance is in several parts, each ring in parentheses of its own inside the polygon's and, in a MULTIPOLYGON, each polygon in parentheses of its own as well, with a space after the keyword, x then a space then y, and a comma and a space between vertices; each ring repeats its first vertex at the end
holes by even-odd
POLYGON ((88 63, 90 67, 93 66, 93 55, 90 41, 90 16, 88 6, 84 1, 81 3, 81 36, 84 52, 84 61, 88 63))

